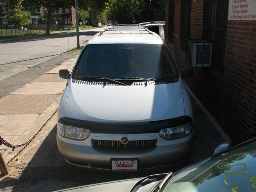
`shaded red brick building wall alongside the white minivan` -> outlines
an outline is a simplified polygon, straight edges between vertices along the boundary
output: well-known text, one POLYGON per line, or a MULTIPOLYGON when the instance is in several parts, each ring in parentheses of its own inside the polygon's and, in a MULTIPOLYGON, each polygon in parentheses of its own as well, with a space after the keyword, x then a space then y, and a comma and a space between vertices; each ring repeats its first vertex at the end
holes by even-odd
POLYGON ((186 39, 212 42, 211 66, 194 68, 185 83, 235 142, 256 136, 255 8, 254 0, 166 1, 166 43, 180 69, 190 68, 186 39), (249 20, 238 16, 246 5, 249 20))

